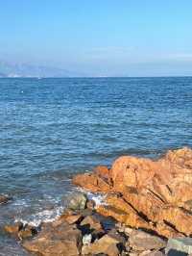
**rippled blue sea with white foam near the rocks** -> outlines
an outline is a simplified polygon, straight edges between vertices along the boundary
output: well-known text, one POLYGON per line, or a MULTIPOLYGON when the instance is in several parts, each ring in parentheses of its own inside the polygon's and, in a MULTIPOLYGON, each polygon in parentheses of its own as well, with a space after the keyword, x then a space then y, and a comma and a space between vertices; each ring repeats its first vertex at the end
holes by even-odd
POLYGON ((121 155, 192 146, 192 78, 0 79, 0 255, 29 255, 3 231, 60 215, 71 177, 121 155))

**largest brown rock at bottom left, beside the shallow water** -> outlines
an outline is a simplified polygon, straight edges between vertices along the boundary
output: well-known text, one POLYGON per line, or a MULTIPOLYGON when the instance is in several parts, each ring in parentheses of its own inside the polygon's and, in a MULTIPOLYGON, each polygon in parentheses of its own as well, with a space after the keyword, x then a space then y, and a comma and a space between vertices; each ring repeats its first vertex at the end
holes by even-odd
POLYGON ((42 256, 77 256, 81 254, 82 233, 75 225, 61 223, 54 227, 47 224, 33 240, 26 240, 22 245, 42 256))

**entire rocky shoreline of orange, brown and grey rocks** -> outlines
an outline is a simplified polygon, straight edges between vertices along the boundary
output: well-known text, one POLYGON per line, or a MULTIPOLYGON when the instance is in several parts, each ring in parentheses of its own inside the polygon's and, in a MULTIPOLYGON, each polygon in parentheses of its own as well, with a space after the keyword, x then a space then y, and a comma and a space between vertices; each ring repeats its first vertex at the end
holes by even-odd
POLYGON ((192 253, 192 149, 168 151, 156 161, 123 156, 111 168, 76 175, 73 183, 104 193, 104 204, 74 193, 55 221, 38 227, 16 222, 6 232, 43 256, 192 253))

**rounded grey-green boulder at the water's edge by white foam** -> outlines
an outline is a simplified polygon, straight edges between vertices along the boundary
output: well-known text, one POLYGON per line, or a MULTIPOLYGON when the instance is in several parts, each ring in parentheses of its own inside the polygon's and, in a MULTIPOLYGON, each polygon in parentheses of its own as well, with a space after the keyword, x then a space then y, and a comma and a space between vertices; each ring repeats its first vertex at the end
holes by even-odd
POLYGON ((69 198, 68 208, 71 210, 84 210, 86 200, 87 198, 84 193, 74 193, 69 198))

